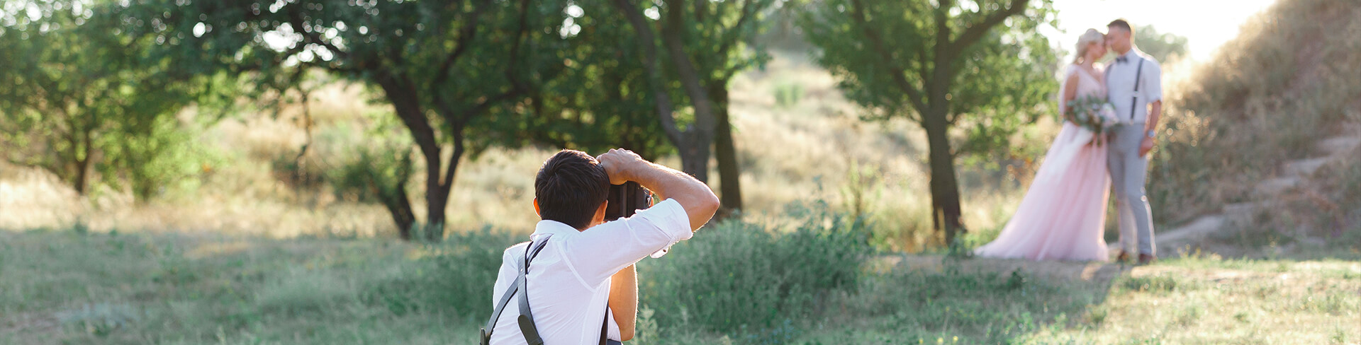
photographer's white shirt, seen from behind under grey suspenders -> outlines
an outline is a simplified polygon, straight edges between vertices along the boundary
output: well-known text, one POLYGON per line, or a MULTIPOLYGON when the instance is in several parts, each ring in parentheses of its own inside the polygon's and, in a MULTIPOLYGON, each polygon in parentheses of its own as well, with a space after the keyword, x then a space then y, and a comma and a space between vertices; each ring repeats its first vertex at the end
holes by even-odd
MULTIPOLYGON (((638 211, 633 217, 607 221, 577 231, 572 225, 543 220, 529 239, 548 238, 539 255, 529 262, 527 276, 529 310, 544 345, 596 344, 600 321, 610 297, 610 277, 648 254, 693 236, 690 217, 675 200, 661 201, 638 211)), ((514 283, 527 243, 506 249, 501 272, 491 291, 493 307, 514 283)), ((519 292, 517 292, 519 293, 519 292)), ((491 331, 491 344, 525 344, 516 318, 520 316, 514 296, 491 331)), ((610 338, 619 340, 618 325, 610 338)))

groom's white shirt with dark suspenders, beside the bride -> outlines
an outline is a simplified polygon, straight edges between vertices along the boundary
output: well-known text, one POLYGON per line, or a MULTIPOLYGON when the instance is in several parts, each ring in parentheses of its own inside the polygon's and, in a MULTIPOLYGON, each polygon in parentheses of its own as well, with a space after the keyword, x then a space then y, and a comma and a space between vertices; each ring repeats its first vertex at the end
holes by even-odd
POLYGON ((1149 103, 1162 101, 1162 67, 1157 60, 1143 54, 1138 48, 1126 52, 1124 62, 1111 61, 1106 65, 1106 99, 1115 105, 1120 121, 1143 124, 1149 118, 1149 103), (1143 58, 1143 72, 1139 69, 1143 58), (1134 91, 1134 79, 1139 79, 1139 91, 1134 91), (1131 102, 1132 101, 1132 102, 1131 102), (1131 121, 1130 110, 1134 110, 1131 121))

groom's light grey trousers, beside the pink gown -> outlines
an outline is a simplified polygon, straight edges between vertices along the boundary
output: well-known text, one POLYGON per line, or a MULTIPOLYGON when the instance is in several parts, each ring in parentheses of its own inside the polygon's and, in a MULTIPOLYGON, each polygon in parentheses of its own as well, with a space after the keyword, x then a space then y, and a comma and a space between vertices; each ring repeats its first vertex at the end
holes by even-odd
POLYGON ((1115 187, 1115 205, 1120 211, 1120 247, 1130 249, 1128 242, 1138 235, 1139 253, 1155 255, 1153 212, 1143 194, 1149 159, 1139 156, 1143 136, 1142 122, 1112 128, 1106 168, 1111 170, 1111 183, 1115 187))

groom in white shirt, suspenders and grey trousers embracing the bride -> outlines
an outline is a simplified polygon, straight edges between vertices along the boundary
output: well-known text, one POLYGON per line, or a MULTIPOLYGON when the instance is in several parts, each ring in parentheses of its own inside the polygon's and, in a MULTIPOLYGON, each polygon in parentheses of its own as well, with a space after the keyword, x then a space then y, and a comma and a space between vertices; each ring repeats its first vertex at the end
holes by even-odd
POLYGON ((1162 114, 1162 69, 1158 61, 1134 48, 1134 29, 1124 19, 1106 24, 1106 46, 1117 56, 1105 71, 1106 96, 1123 122, 1111 130, 1111 153, 1106 158, 1120 211, 1120 254, 1116 259, 1128 261, 1126 250, 1136 243, 1139 265, 1143 265, 1157 258, 1153 213, 1143 183, 1147 153, 1153 149, 1158 115, 1162 114))

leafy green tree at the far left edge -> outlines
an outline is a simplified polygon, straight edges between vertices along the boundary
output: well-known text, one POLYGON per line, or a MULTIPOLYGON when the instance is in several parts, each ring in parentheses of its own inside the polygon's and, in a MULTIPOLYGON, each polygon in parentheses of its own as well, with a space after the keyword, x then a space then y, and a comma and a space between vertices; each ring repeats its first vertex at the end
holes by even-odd
POLYGON ((11 1, 0 23, 0 148, 86 194, 118 186, 137 198, 197 171, 174 117, 206 95, 165 68, 151 38, 122 35, 109 5, 11 1))

